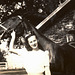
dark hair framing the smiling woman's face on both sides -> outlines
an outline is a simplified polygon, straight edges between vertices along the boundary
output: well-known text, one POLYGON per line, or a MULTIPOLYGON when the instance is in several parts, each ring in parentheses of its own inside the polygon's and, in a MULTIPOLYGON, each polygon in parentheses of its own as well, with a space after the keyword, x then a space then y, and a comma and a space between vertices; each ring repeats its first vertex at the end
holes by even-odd
MULTIPOLYGON (((30 45, 28 43, 28 38, 30 38, 31 36, 36 36, 36 35, 34 33, 30 33, 30 34, 27 34, 25 36, 25 46, 26 46, 26 48, 27 48, 28 51, 32 51, 32 48, 30 47, 30 45)), ((37 38, 37 36, 36 36, 36 38, 37 38)), ((43 50, 43 47, 39 44, 39 42, 38 42, 38 47, 39 47, 39 49, 43 50)))

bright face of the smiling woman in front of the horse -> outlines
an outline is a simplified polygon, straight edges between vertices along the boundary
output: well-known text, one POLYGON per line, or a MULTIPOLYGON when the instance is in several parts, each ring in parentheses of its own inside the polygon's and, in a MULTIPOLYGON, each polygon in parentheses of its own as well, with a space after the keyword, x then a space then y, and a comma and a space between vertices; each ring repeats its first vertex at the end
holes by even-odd
POLYGON ((38 41, 35 35, 28 38, 28 43, 32 49, 35 50, 38 48, 38 41))

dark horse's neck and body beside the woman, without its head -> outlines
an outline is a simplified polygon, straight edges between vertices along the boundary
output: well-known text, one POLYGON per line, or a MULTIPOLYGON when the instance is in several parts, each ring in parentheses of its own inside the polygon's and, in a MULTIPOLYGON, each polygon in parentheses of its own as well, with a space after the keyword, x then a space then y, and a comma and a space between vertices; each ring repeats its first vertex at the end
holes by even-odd
POLYGON ((60 46, 42 35, 32 25, 31 28, 43 49, 49 51, 52 75, 75 75, 75 48, 69 43, 60 46))

